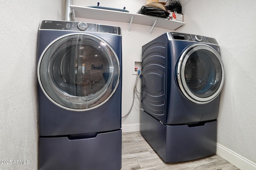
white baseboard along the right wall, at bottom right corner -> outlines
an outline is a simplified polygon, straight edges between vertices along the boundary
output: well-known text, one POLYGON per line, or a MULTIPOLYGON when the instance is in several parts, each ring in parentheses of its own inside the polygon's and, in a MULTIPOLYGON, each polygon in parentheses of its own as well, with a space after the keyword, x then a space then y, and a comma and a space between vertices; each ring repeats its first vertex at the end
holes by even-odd
POLYGON ((256 163, 217 143, 216 154, 240 170, 256 170, 256 163))

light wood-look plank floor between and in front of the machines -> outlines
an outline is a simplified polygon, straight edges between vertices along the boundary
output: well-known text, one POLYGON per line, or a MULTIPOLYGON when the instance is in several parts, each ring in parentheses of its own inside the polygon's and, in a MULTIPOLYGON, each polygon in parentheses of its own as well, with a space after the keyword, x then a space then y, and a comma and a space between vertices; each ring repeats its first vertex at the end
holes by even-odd
POLYGON ((218 155, 164 163, 140 132, 122 133, 122 170, 239 170, 218 155))

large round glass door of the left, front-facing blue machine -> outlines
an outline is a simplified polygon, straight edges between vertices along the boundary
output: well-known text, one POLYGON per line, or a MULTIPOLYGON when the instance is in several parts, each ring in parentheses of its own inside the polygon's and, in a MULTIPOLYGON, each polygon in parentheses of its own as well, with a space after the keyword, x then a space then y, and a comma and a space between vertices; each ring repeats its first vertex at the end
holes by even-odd
POLYGON ((113 49, 94 35, 69 34, 53 41, 38 62, 38 82, 56 105, 85 111, 114 94, 120 65, 113 49))

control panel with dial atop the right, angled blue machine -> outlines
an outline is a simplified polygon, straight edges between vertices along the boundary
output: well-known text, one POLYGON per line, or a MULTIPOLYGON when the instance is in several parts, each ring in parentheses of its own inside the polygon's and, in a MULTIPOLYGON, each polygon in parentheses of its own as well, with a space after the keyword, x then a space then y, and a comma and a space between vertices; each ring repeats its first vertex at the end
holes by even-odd
POLYGON ((184 40, 184 41, 196 41, 202 43, 210 43, 218 45, 216 39, 210 37, 204 37, 201 35, 193 35, 193 34, 186 34, 186 33, 176 33, 176 32, 168 32, 168 38, 170 39, 177 39, 177 40, 184 40))

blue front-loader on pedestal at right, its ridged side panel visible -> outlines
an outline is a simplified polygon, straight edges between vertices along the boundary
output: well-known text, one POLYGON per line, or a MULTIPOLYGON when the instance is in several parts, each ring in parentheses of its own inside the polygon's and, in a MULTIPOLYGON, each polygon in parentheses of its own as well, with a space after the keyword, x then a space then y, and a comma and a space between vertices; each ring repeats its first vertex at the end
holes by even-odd
POLYGON ((142 46, 141 134, 164 162, 216 153, 223 84, 214 38, 168 32, 142 46))

